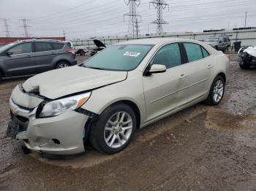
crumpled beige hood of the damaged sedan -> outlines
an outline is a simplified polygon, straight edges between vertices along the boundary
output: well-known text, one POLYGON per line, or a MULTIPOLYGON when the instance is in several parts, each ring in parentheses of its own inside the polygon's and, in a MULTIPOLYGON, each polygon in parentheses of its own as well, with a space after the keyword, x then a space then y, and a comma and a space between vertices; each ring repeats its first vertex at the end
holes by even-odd
POLYGON ((104 71, 71 66, 38 74, 23 83, 27 93, 36 93, 56 99, 64 95, 79 93, 110 85, 127 78, 127 71, 104 71))

